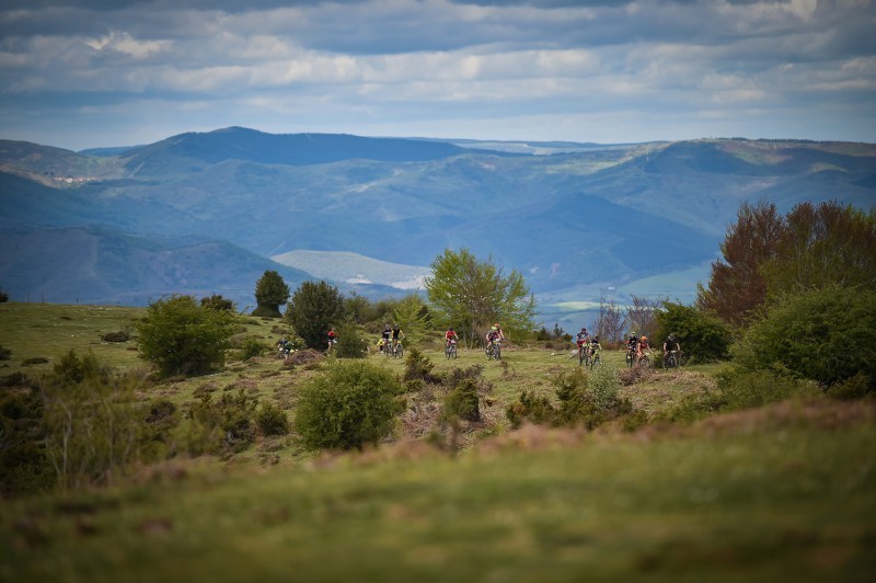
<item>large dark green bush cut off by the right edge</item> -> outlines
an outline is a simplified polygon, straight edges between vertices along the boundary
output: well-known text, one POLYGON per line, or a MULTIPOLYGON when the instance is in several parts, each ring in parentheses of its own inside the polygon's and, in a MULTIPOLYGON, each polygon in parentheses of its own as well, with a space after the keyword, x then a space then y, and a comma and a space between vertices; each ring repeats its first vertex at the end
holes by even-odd
POLYGON ((876 292, 830 286, 787 294, 734 346, 744 367, 788 371, 825 387, 863 374, 876 389, 876 292))

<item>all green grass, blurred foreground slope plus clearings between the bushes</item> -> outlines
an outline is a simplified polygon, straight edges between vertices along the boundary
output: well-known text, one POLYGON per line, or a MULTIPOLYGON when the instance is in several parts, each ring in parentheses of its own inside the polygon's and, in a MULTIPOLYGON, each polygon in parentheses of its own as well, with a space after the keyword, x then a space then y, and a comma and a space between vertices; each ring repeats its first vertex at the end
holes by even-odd
MULTIPOLYGON (((34 374, 71 347, 142 366, 104 343, 142 310, 0 305, 0 375, 34 374), (49 363, 23 366, 44 356, 49 363)), ((244 318, 269 344, 276 321, 244 318)), ((124 485, 0 502, 0 581, 873 581, 876 407, 788 401, 689 426, 511 432, 520 390, 550 395, 565 354, 480 351, 436 369, 484 367, 484 421, 456 455, 415 439, 406 418, 381 447, 313 455, 293 438, 224 459, 173 459, 124 485), (553 355, 552 355, 553 354, 553 355), (492 404, 487 404, 492 403, 492 404)), ((621 368, 606 351, 606 366, 621 368)), ((369 357, 401 371, 403 363, 369 357)), ((172 379, 184 403, 205 386, 283 408, 325 361, 266 355, 172 379)), ((622 393, 656 413, 714 386, 715 367, 656 370, 622 393)), ((152 396, 143 396, 150 398, 152 396)), ((410 413, 406 413, 410 415, 410 413)))

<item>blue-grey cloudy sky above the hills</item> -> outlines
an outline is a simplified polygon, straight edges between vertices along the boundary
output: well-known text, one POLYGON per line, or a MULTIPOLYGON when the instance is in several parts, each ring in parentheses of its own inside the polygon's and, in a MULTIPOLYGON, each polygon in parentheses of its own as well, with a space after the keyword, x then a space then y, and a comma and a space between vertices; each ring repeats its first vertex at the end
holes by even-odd
POLYGON ((4 0, 0 138, 876 141, 876 0, 4 0))

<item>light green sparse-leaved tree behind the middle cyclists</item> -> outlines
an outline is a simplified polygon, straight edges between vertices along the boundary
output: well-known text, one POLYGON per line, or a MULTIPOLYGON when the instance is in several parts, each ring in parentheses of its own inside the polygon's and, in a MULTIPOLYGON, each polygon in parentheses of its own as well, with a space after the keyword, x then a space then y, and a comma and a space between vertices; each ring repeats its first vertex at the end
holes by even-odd
POLYGON ((446 324, 456 325, 470 339, 482 336, 493 322, 508 334, 529 333, 535 298, 523 276, 505 275, 492 260, 480 261, 468 249, 446 249, 431 263, 426 278, 429 302, 446 324))

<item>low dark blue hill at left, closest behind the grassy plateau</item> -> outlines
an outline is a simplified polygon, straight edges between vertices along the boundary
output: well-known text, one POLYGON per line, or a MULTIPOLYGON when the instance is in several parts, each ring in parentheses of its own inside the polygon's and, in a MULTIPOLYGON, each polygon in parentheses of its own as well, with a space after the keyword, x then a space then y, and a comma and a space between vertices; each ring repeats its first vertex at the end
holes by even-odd
POLYGON ((142 239, 67 228, 0 233, 2 288, 20 301, 145 306, 170 293, 254 307, 266 270, 293 289, 310 276, 223 241, 142 239))

